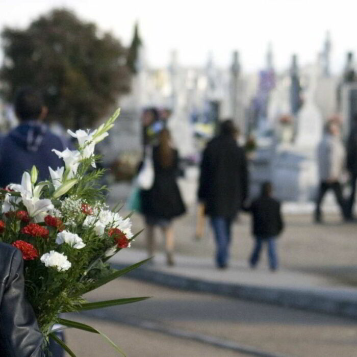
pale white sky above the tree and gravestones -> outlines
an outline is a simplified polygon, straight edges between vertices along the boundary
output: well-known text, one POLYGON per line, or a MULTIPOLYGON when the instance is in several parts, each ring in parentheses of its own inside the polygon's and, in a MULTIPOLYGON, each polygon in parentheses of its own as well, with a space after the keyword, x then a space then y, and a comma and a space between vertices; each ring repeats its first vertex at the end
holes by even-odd
POLYGON ((124 45, 132 38, 135 21, 149 64, 165 66, 176 49, 183 65, 203 65, 213 54, 219 66, 231 63, 239 50, 244 71, 261 68, 271 42, 278 70, 315 61, 326 31, 333 43, 333 71, 339 73, 347 51, 357 57, 357 2, 354 0, 0 0, 0 27, 25 27, 56 7, 73 10, 80 18, 111 31, 124 45))

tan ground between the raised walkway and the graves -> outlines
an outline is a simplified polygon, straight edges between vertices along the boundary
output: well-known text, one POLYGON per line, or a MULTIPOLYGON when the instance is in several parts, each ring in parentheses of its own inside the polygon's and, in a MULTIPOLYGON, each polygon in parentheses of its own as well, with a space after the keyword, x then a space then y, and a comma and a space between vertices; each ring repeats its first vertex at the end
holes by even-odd
MULTIPOLYGON (((195 208, 174 221, 176 251, 189 256, 213 257, 214 241, 209 222, 205 236, 194 240, 195 208)), ((139 215, 133 216, 134 231, 144 227, 139 215)), ((325 216, 324 224, 314 224, 311 215, 290 214, 285 216, 286 229, 278 240, 281 265, 289 270, 314 272, 336 278, 337 283, 357 285, 357 223, 343 223, 336 214, 325 216)), ((157 232, 158 249, 163 248, 161 233, 157 232)), ((145 247, 145 232, 134 243, 136 248, 145 247)), ((246 262, 253 240, 250 235, 250 217, 241 214, 234 224, 232 258, 246 262)), ((267 265, 266 254, 261 261, 267 265)))

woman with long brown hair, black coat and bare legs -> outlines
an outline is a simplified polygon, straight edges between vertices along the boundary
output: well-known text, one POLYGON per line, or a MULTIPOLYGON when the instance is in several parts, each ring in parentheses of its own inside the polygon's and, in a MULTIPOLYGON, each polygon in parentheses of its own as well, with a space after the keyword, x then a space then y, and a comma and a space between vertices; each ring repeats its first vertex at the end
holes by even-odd
POLYGON ((185 213, 177 171, 179 153, 171 146, 171 136, 167 129, 159 134, 159 144, 152 148, 154 164, 154 184, 149 190, 141 191, 141 212, 146 221, 147 253, 151 257, 155 251, 154 227, 159 226, 165 238, 167 265, 174 265, 174 233, 172 219, 185 213))

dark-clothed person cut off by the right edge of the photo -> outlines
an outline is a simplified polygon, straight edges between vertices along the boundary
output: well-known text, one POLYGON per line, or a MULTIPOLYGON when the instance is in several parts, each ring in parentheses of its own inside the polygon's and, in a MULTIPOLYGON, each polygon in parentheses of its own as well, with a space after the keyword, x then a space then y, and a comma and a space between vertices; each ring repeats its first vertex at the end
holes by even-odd
POLYGON ((348 220, 353 220, 353 206, 356 193, 357 181, 357 114, 353 117, 353 125, 347 140, 347 170, 349 172, 349 179, 351 184, 351 193, 347 200, 346 214, 348 220))

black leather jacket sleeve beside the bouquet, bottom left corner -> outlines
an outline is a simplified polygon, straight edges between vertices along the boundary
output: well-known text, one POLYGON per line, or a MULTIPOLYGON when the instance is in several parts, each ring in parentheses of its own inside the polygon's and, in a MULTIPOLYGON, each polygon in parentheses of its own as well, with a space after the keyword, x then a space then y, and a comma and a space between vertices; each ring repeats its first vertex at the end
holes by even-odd
MULTIPOLYGON (((8 259, 6 259, 8 261, 8 259)), ((24 296, 21 252, 11 250, 10 268, 1 281, 0 348, 7 357, 44 357, 43 336, 34 311, 24 296)))

